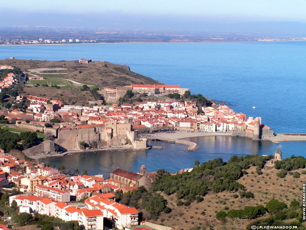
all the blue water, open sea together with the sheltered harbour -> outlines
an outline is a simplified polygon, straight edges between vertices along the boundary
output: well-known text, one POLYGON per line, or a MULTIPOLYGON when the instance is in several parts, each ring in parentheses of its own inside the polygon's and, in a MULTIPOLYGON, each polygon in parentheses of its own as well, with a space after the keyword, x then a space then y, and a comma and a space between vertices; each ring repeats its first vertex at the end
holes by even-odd
MULTIPOLYGON (((165 84, 180 84, 192 94, 227 102, 247 117, 262 117, 276 133, 306 133, 306 42, 257 43, 155 43, 37 45, 0 47, 0 59, 77 60, 90 58, 128 65, 131 71, 165 84), (252 109, 255 106, 256 109, 252 109)), ((86 168, 89 173, 109 174, 117 166, 139 171, 165 168, 177 171, 216 157, 271 154, 277 144, 243 137, 197 137, 200 148, 186 152, 185 146, 159 142, 162 150, 100 152, 44 159, 67 168, 86 168), (85 155, 85 154, 84 154, 85 155), (73 159, 73 160, 72 160, 73 159), (97 160, 98 159, 98 160, 97 160)), ((156 143, 155 143, 156 145, 156 143)), ((281 143, 284 157, 306 156, 306 142, 281 143)))

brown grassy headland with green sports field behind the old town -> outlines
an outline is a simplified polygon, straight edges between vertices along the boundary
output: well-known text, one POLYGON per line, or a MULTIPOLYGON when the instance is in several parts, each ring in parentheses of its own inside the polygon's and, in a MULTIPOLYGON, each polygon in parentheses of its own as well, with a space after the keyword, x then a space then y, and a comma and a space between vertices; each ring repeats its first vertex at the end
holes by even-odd
MULTIPOLYGON (((128 66, 109 62, 79 63, 75 61, 39 61, 23 59, 3 59, 0 64, 18 67, 30 76, 40 76, 44 80, 28 80, 15 89, 18 94, 54 98, 67 104, 90 105, 97 96, 92 90, 83 90, 83 85, 96 90, 104 87, 116 88, 130 84, 160 84, 154 79, 130 71, 128 66), (52 87, 51 87, 52 85, 52 87), (56 85, 56 87, 53 87, 56 85), (98 88, 97 88, 98 87, 98 88)), ((6 102, 13 102, 7 99, 6 102)))

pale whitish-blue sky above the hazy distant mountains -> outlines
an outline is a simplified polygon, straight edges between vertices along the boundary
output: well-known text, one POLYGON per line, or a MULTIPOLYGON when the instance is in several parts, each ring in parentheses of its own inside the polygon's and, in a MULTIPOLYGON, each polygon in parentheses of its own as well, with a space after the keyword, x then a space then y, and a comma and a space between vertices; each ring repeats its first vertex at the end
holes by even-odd
MULTIPOLYGON (((167 15, 213 22, 297 21, 306 23, 305 0, 10 0, 2 10, 55 14, 167 15)), ((3 20, 3 18, 1 19, 3 20)))

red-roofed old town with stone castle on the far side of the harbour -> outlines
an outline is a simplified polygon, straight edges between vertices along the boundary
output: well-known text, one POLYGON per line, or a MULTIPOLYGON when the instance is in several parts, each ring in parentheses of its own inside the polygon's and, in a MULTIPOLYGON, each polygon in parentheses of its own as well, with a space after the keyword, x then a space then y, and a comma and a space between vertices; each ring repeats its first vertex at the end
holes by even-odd
MULTIPOLYGON (((83 60, 83 59, 82 59, 83 60)), ((188 89, 179 85, 135 85, 121 87, 124 93, 175 93, 188 89)), ((111 90, 106 89, 108 93, 111 90)), ((122 92, 121 92, 122 93, 122 92)), ((118 90, 116 94, 119 94, 118 90)), ((6 116, 21 129, 51 133, 54 140, 25 150, 29 156, 52 154, 56 151, 89 148, 147 148, 141 133, 168 131, 228 132, 233 136, 247 136, 266 140, 274 136, 260 117, 247 117, 220 103, 199 107, 192 101, 146 101, 136 104, 64 105, 63 102, 36 96, 18 95, 16 103, 30 101, 25 113, 15 109, 6 116), (45 127, 54 119, 62 121, 45 127), (30 121, 27 124, 25 120, 30 121), (85 143, 85 145, 81 145, 85 143), (48 146, 47 146, 48 145, 48 146)))

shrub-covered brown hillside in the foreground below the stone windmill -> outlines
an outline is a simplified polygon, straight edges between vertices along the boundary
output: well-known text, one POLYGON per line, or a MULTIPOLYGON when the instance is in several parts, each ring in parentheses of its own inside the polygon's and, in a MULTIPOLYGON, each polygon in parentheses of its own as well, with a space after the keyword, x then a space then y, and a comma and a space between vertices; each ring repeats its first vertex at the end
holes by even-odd
POLYGON ((305 229, 301 199, 306 159, 292 156, 264 171, 270 159, 233 156, 228 162, 195 161, 198 167, 181 174, 159 170, 152 191, 118 194, 118 201, 140 209, 144 220, 180 230, 249 230, 251 225, 305 229))

